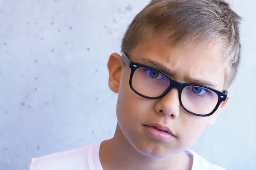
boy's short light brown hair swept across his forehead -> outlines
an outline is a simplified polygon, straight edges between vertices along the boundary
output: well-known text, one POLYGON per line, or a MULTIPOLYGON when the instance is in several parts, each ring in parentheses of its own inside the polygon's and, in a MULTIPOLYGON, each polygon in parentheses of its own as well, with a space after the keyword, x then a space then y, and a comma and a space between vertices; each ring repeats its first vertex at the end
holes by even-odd
POLYGON ((171 45, 192 40, 218 45, 227 63, 224 88, 236 78, 241 60, 241 17, 224 0, 152 0, 128 26, 121 50, 129 54, 150 29, 172 32, 171 45))

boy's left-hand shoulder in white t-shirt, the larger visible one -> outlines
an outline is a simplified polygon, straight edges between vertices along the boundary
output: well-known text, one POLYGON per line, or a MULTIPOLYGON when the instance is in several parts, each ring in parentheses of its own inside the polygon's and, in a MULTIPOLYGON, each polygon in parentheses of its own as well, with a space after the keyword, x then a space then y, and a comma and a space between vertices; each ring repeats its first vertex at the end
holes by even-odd
POLYGON ((52 153, 46 156, 33 158, 29 170, 82 170, 87 169, 88 158, 91 157, 93 147, 98 143, 85 147, 52 153))

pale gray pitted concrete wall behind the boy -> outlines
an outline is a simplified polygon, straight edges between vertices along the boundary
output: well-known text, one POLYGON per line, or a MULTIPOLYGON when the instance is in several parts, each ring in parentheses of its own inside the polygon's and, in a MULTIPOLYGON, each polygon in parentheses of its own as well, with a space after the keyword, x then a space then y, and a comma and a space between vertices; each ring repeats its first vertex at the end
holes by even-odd
MULTIPOLYGON (((148 0, 0 0, 0 170, 113 136, 106 62, 148 0)), ((256 1, 243 17, 243 59, 230 102, 192 147, 230 170, 256 169, 256 1)))

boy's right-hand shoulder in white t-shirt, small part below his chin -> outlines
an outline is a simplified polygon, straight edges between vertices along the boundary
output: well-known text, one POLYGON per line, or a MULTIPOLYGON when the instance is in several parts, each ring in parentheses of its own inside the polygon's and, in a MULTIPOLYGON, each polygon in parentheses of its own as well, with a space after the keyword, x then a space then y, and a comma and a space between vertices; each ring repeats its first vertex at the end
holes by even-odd
POLYGON ((209 163, 203 157, 195 153, 195 151, 186 150, 185 152, 193 157, 192 170, 227 170, 216 164, 209 163))

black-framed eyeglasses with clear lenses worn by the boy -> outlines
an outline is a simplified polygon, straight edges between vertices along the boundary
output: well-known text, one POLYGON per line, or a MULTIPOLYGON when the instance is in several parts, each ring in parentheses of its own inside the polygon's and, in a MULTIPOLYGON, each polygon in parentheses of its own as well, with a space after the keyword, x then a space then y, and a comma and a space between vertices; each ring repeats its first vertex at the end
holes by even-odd
POLYGON ((203 85, 177 82, 160 70, 131 61, 125 53, 122 59, 131 68, 131 90, 147 99, 159 99, 177 88, 180 105, 185 111, 196 116, 210 116, 227 98, 227 90, 221 92, 203 85))

